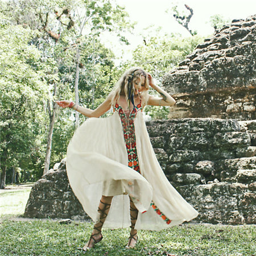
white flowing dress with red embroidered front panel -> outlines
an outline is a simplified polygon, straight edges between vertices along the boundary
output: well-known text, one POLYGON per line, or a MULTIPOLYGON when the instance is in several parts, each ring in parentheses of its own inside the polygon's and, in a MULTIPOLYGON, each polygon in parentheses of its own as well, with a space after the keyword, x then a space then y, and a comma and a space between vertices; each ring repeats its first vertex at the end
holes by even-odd
POLYGON ((141 104, 130 115, 118 104, 113 107, 111 117, 87 119, 68 146, 69 183, 85 212, 97 222, 101 196, 114 196, 103 227, 126 228, 130 196, 139 210, 135 229, 161 230, 195 218, 198 212, 172 187, 156 159, 141 104))

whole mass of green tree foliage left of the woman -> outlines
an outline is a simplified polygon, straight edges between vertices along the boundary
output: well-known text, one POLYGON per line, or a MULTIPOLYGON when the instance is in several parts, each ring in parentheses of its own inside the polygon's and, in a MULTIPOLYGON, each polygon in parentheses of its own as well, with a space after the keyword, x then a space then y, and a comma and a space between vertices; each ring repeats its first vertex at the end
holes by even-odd
MULTIPOLYGON (((54 100, 74 100, 77 48, 80 104, 96 108, 113 86, 114 67, 98 36, 112 31, 125 42, 123 31, 132 26, 109 0, 9 0, 0 3, 0 20, 1 169, 10 177, 20 167, 22 181, 36 180, 46 152, 47 101, 52 111, 54 100)), ((57 109, 51 167, 65 157, 74 130, 72 110, 57 109)))

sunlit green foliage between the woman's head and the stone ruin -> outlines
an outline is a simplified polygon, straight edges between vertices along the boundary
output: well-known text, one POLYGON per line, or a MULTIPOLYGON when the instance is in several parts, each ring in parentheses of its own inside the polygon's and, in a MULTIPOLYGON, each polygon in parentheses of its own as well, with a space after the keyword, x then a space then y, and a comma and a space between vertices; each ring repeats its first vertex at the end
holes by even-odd
MULTIPOLYGON (((146 39, 146 44, 141 44, 135 49, 131 62, 151 73, 155 82, 160 85, 164 74, 176 67, 201 42, 203 38, 198 35, 189 38, 182 38, 177 34, 166 35, 162 38, 152 37, 146 39)), ((129 63, 125 63, 125 67, 128 65, 129 63)), ((157 95, 152 89, 150 89, 150 94, 157 95)), ((167 119, 169 108, 147 106, 144 112, 153 119, 167 119)))

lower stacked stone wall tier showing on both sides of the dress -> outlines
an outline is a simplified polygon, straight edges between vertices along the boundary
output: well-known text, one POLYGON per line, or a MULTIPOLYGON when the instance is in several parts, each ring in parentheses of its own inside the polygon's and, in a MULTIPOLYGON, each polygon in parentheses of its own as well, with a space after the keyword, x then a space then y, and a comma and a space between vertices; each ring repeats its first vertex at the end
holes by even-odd
MULTIPOLYGON (((184 118, 147 128, 168 180, 199 210, 197 222, 256 223, 256 121, 184 118)), ((25 215, 88 218, 70 188, 65 161, 35 183, 25 215)))

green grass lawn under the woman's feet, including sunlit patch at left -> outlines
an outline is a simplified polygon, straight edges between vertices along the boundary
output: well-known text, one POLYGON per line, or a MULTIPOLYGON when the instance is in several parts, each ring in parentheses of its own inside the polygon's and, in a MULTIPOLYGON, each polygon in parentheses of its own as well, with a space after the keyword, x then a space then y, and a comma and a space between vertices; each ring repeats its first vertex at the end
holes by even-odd
POLYGON ((160 232, 139 230, 135 249, 125 249, 129 229, 104 229, 104 240, 83 252, 80 247, 88 240, 93 224, 17 217, 24 212, 28 194, 29 189, 0 191, 0 255, 256 256, 255 225, 184 224, 160 232))

